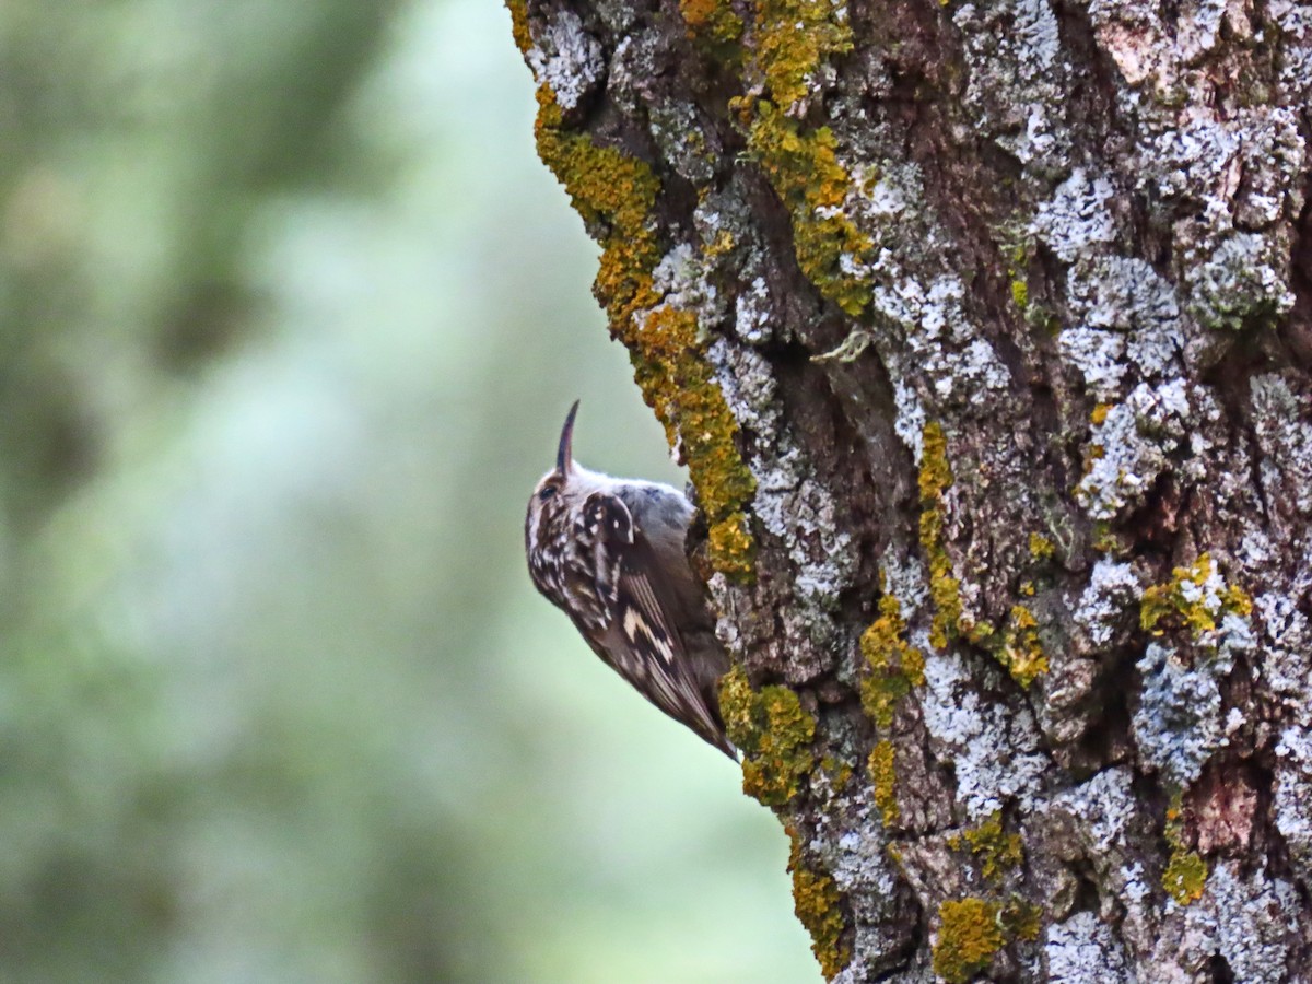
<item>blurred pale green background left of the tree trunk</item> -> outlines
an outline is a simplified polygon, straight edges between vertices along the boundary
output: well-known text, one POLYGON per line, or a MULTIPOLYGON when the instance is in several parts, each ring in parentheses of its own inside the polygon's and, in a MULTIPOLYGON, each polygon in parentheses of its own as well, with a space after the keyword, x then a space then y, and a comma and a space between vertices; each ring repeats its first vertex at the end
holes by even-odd
POLYGON ((0 980, 808 981, 523 571, 682 482, 493 0, 0 5, 0 980))

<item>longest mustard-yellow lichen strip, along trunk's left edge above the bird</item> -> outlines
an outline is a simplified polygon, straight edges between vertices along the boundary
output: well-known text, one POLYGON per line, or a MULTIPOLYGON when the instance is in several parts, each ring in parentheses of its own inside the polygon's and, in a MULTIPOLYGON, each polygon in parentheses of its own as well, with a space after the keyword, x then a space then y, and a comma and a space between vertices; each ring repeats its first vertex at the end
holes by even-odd
POLYGON ((651 215, 660 181, 644 161, 567 133, 546 85, 538 97, 538 154, 601 243, 593 293, 611 335, 628 349, 643 399, 670 445, 682 450, 710 523, 711 565, 750 580, 753 541, 744 510, 756 482, 735 443, 737 420, 705 358, 695 314, 661 304, 653 287, 661 249, 651 215))

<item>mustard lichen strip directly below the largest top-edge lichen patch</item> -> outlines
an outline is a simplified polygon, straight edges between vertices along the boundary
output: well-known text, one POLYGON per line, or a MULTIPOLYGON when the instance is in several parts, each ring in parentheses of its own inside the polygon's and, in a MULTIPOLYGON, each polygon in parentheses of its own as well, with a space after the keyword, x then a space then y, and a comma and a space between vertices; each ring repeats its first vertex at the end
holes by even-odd
POLYGON ((833 133, 806 131, 769 101, 756 102, 753 114, 748 146, 792 216, 798 265, 825 298, 859 315, 870 286, 848 273, 844 260, 862 260, 874 244, 841 211, 851 178, 834 154, 833 133))

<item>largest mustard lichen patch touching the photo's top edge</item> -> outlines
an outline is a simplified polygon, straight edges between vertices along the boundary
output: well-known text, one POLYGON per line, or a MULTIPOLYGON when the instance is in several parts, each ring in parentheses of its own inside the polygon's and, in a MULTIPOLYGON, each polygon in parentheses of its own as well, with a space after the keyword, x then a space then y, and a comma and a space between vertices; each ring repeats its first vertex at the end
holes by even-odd
POLYGON ((757 0, 754 47, 770 98, 789 109, 806 98, 825 59, 851 51, 846 7, 834 0, 757 0))

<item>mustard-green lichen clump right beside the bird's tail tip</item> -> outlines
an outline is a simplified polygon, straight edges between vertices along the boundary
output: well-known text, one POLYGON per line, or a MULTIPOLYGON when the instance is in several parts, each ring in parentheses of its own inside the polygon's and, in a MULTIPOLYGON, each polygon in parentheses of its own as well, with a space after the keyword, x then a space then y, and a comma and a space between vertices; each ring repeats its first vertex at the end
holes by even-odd
POLYGON ((798 695, 786 686, 753 690, 735 666, 720 681, 720 715, 729 741, 743 752, 743 791, 768 807, 796 796, 816 765, 816 723, 798 695))

